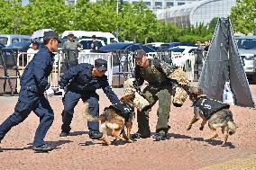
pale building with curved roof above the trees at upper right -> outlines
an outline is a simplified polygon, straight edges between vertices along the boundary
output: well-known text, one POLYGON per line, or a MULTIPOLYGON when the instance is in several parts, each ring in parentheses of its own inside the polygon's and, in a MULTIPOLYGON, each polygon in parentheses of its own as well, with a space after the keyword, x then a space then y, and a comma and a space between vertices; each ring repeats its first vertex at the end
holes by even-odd
POLYGON ((181 27, 208 23, 215 17, 228 17, 236 0, 202 0, 155 11, 157 18, 181 27))

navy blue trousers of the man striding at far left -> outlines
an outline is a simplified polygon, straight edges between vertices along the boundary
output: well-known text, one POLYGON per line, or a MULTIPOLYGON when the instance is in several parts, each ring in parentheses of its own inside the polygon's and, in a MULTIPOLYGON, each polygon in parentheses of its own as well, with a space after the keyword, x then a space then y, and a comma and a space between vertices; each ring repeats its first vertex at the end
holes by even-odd
POLYGON ((40 118, 40 124, 35 132, 32 146, 40 147, 45 144, 43 139, 54 120, 54 114, 50 107, 50 103, 43 95, 28 97, 27 95, 23 95, 27 94, 26 90, 20 94, 22 95, 19 96, 18 102, 15 105, 14 113, 0 125, 0 141, 1 139, 4 139, 5 134, 9 130, 23 122, 33 111, 40 118))

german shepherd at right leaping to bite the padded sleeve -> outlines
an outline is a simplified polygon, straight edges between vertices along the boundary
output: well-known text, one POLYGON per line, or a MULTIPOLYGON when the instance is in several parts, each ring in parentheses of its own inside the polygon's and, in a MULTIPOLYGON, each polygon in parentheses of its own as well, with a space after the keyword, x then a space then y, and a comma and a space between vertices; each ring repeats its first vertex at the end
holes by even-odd
MULTIPOLYGON (((189 88, 189 99, 192 102, 196 102, 198 98, 203 96, 203 91, 197 87, 189 88)), ((205 95, 206 96, 206 95, 205 95)), ((229 107, 228 107, 229 108, 229 107)), ((214 112, 210 118, 206 118, 206 113, 199 109, 199 107, 194 108, 194 117, 190 121, 187 130, 190 130, 192 125, 197 122, 200 118, 203 119, 201 127, 199 130, 203 130, 206 122, 208 121, 209 128, 213 131, 213 135, 205 140, 215 139, 218 136, 217 128, 221 128, 224 134, 224 142, 222 146, 225 146, 229 135, 233 135, 236 130, 236 125, 233 122, 233 114, 228 108, 223 108, 214 112)))

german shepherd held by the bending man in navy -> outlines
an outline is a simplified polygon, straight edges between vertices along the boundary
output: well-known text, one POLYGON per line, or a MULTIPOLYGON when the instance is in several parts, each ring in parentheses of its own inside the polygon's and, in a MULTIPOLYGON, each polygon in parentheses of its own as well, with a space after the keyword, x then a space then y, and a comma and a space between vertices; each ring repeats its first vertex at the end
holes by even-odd
MULTIPOLYGON (((133 108, 133 99, 135 95, 125 95, 120 101, 128 104, 131 108, 133 108)), ((103 132, 103 137, 101 140, 105 143, 105 145, 110 145, 111 141, 107 138, 108 135, 114 137, 119 140, 126 140, 127 142, 133 142, 130 139, 131 130, 133 127, 133 119, 134 112, 131 113, 128 121, 125 121, 122 116, 120 116, 121 111, 115 109, 112 105, 109 107, 105 107, 104 112, 96 117, 88 114, 88 103, 85 103, 85 119, 86 121, 100 121, 100 131, 103 132), (124 128, 126 127, 126 133, 124 128), (123 134, 123 137, 121 137, 123 134)))

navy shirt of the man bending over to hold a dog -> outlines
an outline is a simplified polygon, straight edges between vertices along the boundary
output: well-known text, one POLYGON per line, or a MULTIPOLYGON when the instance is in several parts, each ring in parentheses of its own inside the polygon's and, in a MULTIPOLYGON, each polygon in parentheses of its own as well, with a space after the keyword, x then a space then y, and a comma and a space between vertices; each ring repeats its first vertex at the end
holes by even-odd
POLYGON ((78 94, 95 93, 96 89, 102 88, 111 103, 119 103, 118 97, 108 84, 107 76, 92 76, 93 67, 93 65, 87 63, 71 67, 61 76, 59 80, 60 88, 64 89, 67 86, 68 90, 78 94))

